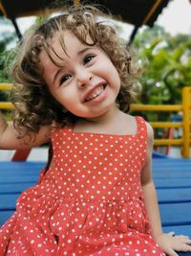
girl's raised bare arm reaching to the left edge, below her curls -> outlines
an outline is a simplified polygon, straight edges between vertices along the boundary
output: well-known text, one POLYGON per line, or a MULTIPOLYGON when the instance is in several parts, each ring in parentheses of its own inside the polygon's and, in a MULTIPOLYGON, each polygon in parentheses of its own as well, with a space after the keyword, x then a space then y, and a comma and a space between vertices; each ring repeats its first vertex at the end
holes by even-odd
POLYGON ((29 140, 28 136, 19 139, 18 131, 13 127, 12 123, 8 123, 4 116, 0 113, 1 150, 27 149, 47 143, 50 140, 50 131, 50 126, 42 127, 40 128, 39 132, 33 136, 34 139, 29 140))

